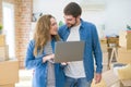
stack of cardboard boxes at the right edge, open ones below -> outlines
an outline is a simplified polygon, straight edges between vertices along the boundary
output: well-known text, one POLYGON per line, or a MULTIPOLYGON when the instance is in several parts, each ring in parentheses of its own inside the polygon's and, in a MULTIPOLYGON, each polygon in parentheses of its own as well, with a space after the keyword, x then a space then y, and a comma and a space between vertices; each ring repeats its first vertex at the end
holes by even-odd
MULTIPOLYGON (((117 40, 117 39, 116 39, 117 40)), ((117 62, 112 63, 111 70, 103 73, 103 78, 106 82, 107 87, 131 87, 131 78, 130 79, 121 79, 121 76, 126 74, 121 74, 118 71, 127 71, 127 65, 131 63, 131 32, 121 32, 119 35, 119 46, 118 48, 118 57, 117 62), (124 66, 126 65, 126 66, 124 66), (115 66, 115 67, 114 67, 115 66), (111 75, 111 76, 109 76, 111 75), (111 78, 109 78, 111 77, 111 78), (116 79, 112 83, 109 80, 116 79), (108 86, 110 84, 110 86, 108 86), (115 86, 116 85, 116 86, 115 86)), ((131 70, 131 69, 130 69, 131 70)), ((130 76, 130 72, 127 74, 130 76)))

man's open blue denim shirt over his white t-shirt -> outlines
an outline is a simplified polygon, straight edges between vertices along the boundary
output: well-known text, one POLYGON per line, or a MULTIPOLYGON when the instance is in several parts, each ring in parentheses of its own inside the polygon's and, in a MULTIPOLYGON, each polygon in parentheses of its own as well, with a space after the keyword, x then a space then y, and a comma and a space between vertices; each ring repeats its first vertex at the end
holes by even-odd
MULTIPOLYGON (((68 28, 67 25, 63 25, 59 28, 58 33, 60 38, 66 41, 70 34, 70 28, 68 28)), ((92 80, 94 77, 94 59, 96 65, 96 73, 102 73, 103 70, 103 54, 96 26, 92 23, 81 20, 81 27, 79 33, 80 39, 85 41, 83 62, 86 79, 92 80)))

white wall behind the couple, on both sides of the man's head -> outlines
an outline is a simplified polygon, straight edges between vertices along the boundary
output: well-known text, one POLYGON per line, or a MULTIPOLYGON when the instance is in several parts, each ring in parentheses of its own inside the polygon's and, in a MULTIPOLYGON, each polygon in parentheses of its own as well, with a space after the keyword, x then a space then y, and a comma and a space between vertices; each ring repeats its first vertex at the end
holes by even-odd
MULTIPOLYGON (((57 21, 63 21, 63 8, 70 1, 81 0, 34 0, 33 12, 52 14, 57 21)), ((90 0, 92 1, 92 0, 90 0)), ((131 0, 103 0, 106 2, 105 10, 84 11, 82 18, 94 23, 98 28, 99 37, 103 36, 102 28, 105 25, 105 35, 118 35, 119 30, 126 29, 126 25, 131 25, 131 0)))

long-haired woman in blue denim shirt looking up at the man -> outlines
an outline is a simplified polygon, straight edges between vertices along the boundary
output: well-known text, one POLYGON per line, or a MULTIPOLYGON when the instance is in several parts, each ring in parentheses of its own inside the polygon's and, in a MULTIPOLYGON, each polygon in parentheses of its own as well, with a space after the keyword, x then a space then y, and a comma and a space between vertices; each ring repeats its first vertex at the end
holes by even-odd
POLYGON ((43 15, 29 41, 25 59, 25 67, 34 69, 33 87, 63 87, 64 74, 60 63, 53 63, 55 42, 59 41, 56 18, 43 15))

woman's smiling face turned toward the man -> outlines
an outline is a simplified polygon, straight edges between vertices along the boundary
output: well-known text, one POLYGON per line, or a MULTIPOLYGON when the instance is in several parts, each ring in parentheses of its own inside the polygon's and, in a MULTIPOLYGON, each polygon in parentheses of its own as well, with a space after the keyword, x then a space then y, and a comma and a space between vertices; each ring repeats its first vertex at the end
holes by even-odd
POLYGON ((50 25, 50 35, 57 35, 58 34, 58 25, 53 17, 50 18, 51 25, 50 25))

